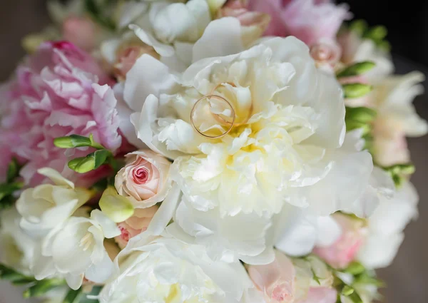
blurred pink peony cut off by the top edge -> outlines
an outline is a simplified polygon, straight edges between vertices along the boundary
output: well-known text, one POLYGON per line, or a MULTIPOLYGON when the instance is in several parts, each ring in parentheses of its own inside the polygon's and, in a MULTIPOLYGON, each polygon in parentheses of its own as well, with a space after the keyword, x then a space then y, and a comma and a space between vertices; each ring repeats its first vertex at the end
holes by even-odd
POLYGON ((296 36, 309 46, 321 38, 335 39, 342 22, 351 17, 347 5, 328 0, 249 0, 248 6, 272 16, 267 36, 296 36))

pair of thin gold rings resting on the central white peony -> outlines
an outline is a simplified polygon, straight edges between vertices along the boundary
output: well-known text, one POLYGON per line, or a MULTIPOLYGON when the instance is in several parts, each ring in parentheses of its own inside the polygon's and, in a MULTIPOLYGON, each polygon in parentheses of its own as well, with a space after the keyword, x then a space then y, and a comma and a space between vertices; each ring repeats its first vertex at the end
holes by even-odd
MULTIPOLYGON (((251 111, 253 111, 253 106, 252 106, 251 110, 250 110, 250 114, 248 115, 248 117, 243 122, 236 123, 236 112, 235 112, 235 109, 233 108, 232 103, 230 103, 230 101, 228 101, 228 99, 226 99, 222 96, 215 95, 215 93, 214 93, 217 90, 217 88, 219 88, 220 86, 223 86, 224 84, 226 84, 226 83, 218 84, 218 86, 215 86, 215 88, 213 88, 213 90, 208 95, 205 95, 202 98, 199 98, 198 101, 196 101, 195 104, 193 105, 192 111, 190 111, 190 122, 192 123, 193 128, 200 135, 202 135, 205 138, 218 139, 218 138, 224 137, 225 135, 230 133, 230 130, 232 130, 234 126, 244 125, 244 124, 248 123, 248 120, 250 119, 251 111), (207 134, 203 133, 200 129, 198 129, 198 127, 196 127, 196 125, 195 125, 195 122, 193 120, 193 115, 195 114, 195 111, 196 111, 199 103, 204 101, 205 99, 207 99, 207 100, 208 99, 217 99, 217 100, 225 102, 230 107, 230 111, 232 112, 232 117, 231 117, 232 120, 231 121, 226 120, 220 114, 212 113, 215 120, 217 120, 219 123, 223 123, 223 125, 227 125, 227 128, 224 131, 224 133, 221 133, 220 135, 207 135, 207 134)), ((229 84, 230 86, 236 87, 233 83, 227 83, 227 84, 229 84)))

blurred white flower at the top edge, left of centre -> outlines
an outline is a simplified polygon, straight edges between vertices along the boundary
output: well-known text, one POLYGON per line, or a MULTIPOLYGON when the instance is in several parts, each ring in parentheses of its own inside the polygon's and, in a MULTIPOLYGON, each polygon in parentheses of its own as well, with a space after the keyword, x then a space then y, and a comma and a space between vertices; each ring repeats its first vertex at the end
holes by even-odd
POLYGON ((121 59, 121 49, 138 47, 141 49, 133 57, 150 53, 181 71, 190 65, 193 44, 210 21, 210 8, 205 0, 190 0, 186 4, 180 1, 129 2, 124 4, 119 26, 129 24, 131 31, 105 41, 101 53, 114 64, 121 59))

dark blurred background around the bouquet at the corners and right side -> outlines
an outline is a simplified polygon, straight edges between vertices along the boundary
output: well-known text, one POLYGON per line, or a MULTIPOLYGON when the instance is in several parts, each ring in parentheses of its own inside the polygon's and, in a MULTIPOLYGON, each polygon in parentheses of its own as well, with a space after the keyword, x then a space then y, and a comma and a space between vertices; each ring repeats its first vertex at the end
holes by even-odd
MULTIPOLYGON (((260 0, 263 1, 263 0, 260 0)), ((44 29, 49 24, 46 0, 1 0, 0 11, 0 81, 5 81, 24 56, 21 38, 44 29)), ((396 73, 422 71, 428 76, 428 1, 347 0, 356 19, 371 26, 384 25, 392 45, 396 73)), ((424 83, 427 89, 427 82, 424 83)), ((428 95, 419 96, 414 105, 428 120, 428 95)), ((417 168, 412 179, 419 190, 419 220, 406 230, 406 238, 394 264, 379 270, 388 287, 383 289, 386 303, 428 302, 428 136, 409 139, 412 159, 417 168), (427 232, 427 233, 426 233, 427 232)), ((0 303, 16 301, 19 290, 0 285, 0 303), (7 291, 5 290, 7 289, 7 291), (7 294, 6 294, 7 293, 7 294), (9 297, 13 295, 13 297, 9 297)))

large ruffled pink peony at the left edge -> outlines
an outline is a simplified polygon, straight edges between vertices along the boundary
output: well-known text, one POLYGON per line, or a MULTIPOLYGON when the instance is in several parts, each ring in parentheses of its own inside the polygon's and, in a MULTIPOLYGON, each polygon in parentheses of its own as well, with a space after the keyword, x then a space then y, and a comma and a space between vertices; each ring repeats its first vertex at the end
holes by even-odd
MULTIPOLYGON (((27 185, 43 181, 36 174, 43 167, 54 168, 86 185, 103 177, 103 169, 86 175, 70 170, 67 163, 71 150, 56 148, 54 138, 92 133, 97 142, 116 151, 122 139, 116 98, 108 84, 113 83, 98 63, 65 41, 42 44, 19 66, 15 79, 0 91, 0 149, 6 148, 24 160, 21 175, 27 185)), ((72 151, 73 157, 90 152, 72 151)), ((8 154, 2 153, 1 157, 8 154)))

